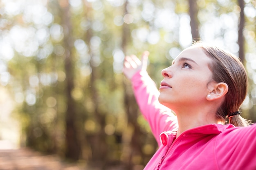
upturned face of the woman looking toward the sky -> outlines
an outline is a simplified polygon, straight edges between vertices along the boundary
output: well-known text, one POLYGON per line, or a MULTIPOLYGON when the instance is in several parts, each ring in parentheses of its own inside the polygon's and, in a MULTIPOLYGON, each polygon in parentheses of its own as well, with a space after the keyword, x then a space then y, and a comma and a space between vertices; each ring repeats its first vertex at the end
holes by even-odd
POLYGON ((182 51, 171 66, 162 70, 159 102, 173 111, 206 102, 210 91, 207 87, 212 82, 210 62, 199 47, 182 51))

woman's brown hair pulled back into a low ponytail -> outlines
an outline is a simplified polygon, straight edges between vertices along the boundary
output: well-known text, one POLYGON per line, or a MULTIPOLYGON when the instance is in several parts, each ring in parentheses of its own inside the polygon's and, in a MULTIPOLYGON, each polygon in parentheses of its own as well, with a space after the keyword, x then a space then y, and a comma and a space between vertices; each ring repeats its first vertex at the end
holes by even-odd
POLYGON ((247 95, 247 73, 243 63, 235 55, 224 51, 217 46, 209 46, 202 42, 194 42, 204 53, 212 59, 209 68, 212 71, 212 79, 215 82, 224 82, 229 87, 224 102, 217 110, 216 116, 225 122, 226 118, 234 126, 249 126, 250 121, 240 115, 231 116, 239 111, 247 95), (229 117, 231 116, 231 117, 229 117))

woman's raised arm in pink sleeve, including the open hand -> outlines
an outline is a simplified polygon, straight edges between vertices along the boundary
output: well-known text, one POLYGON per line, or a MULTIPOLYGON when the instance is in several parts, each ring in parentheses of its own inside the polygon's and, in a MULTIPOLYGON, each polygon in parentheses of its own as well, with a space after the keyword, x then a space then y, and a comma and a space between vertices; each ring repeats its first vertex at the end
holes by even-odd
POLYGON ((123 72, 131 80, 141 113, 148 121, 157 143, 160 144, 160 133, 176 129, 177 118, 169 108, 158 102, 159 91, 146 71, 148 55, 147 51, 144 52, 141 60, 135 55, 126 56, 123 72))

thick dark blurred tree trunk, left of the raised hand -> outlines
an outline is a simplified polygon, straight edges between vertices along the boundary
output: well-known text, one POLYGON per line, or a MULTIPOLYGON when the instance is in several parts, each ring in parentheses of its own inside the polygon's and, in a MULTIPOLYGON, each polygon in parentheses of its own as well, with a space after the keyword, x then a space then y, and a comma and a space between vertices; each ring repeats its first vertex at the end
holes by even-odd
POLYGON ((65 73, 66 73, 66 97, 67 111, 65 117, 66 123, 66 152, 68 159, 78 160, 81 154, 81 144, 79 143, 76 130, 76 102, 72 98, 72 90, 74 88, 74 67, 72 63, 72 26, 70 23, 70 10, 68 0, 61 2, 63 7, 63 28, 64 28, 64 48, 65 48, 65 73))

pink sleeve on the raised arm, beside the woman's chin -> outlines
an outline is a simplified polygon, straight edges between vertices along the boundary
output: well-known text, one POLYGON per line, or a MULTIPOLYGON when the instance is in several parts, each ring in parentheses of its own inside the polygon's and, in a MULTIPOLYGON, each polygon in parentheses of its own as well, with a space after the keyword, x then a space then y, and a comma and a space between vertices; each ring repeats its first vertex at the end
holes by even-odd
POLYGON ((159 135, 163 131, 177 129, 177 117, 169 108, 158 102, 159 91, 146 71, 137 72, 131 81, 140 111, 148 121, 152 133, 160 145, 159 135))

